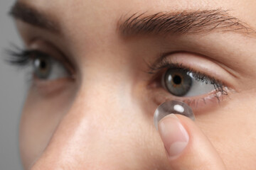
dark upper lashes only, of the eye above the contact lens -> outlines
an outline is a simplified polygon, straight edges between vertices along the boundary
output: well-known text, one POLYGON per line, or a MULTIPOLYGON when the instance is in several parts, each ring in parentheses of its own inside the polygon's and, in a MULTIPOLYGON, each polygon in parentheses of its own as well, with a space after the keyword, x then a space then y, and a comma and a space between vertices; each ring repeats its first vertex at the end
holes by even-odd
MULTIPOLYGON (((193 77, 196 79, 196 81, 201 81, 201 82, 206 82, 206 84, 208 84, 208 79, 210 80, 210 84, 213 84, 214 89, 217 92, 220 92, 222 95, 228 95, 228 92, 225 91, 224 89, 224 84, 222 81, 215 79, 215 77, 210 77, 207 76, 206 74, 202 73, 202 72, 198 72, 192 68, 188 68, 188 67, 184 67, 183 64, 181 63, 173 63, 173 62, 169 62, 168 60, 165 60, 166 58, 164 58, 164 60, 161 60, 159 63, 155 64, 155 65, 150 65, 149 66, 149 74, 157 74, 157 72, 159 72, 159 70, 161 69, 165 69, 165 68, 174 68, 174 69, 181 69, 184 72, 189 72, 193 74, 193 77)), ((216 98, 218 98, 219 101, 219 97, 218 95, 216 95, 216 98)))

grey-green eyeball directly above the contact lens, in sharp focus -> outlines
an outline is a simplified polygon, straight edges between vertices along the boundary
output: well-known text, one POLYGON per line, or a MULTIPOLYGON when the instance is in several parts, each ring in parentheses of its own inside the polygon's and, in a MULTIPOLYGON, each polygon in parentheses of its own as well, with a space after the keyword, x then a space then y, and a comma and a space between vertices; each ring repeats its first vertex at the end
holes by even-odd
POLYGON ((204 75, 180 68, 168 69, 162 77, 162 84, 174 96, 198 96, 207 94, 219 86, 204 75))

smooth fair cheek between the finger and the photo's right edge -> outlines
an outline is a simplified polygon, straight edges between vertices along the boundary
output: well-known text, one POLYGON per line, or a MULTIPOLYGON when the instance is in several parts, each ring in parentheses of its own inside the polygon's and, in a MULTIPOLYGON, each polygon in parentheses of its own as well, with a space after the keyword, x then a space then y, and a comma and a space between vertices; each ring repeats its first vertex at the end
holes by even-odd
POLYGON ((256 166, 255 92, 229 96, 215 111, 196 117, 196 123, 212 142, 228 169, 235 166, 250 169, 256 166), (252 158, 255 159, 252 159, 252 158), (248 166, 247 166, 248 165, 248 166), (246 167, 245 167, 246 166, 246 167))

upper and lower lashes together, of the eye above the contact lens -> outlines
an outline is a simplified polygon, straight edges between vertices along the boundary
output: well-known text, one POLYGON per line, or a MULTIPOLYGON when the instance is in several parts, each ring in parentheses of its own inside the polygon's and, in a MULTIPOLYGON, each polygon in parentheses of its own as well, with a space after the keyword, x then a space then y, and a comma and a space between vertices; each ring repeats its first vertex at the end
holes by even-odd
MULTIPOLYGON (((222 95, 228 96, 228 91, 225 90, 225 89, 228 89, 228 87, 225 86, 225 84, 223 84, 223 81, 215 79, 215 77, 210 77, 204 74, 203 72, 198 72, 193 68, 185 67, 181 63, 170 62, 169 60, 166 59, 166 57, 162 58, 162 60, 157 64, 148 64, 148 66, 149 66, 149 72, 147 73, 154 74, 156 75, 156 77, 159 77, 159 76, 161 77, 163 76, 163 74, 165 74, 166 71, 163 73, 162 71, 163 69, 166 69, 166 70, 179 69, 183 72, 192 73, 196 81, 201 81, 202 83, 204 82, 206 84, 208 83, 213 84, 215 89, 215 98, 217 98, 218 103, 220 103, 220 96, 222 95), (208 80, 210 82, 208 82, 208 80)), ((202 99, 203 101, 205 101, 205 98, 202 98, 202 99)), ((196 99, 186 99, 186 103, 188 103, 188 105, 191 105, 192 103, 196 105, 197 102, 196 102, 196 99)))

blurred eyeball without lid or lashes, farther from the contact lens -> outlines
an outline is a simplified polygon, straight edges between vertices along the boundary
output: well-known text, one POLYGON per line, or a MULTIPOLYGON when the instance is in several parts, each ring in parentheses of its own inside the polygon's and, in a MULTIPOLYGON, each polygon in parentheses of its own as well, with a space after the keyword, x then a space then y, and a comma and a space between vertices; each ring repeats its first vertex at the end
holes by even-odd
POLYGON ((32 64, 33 74, 38 79, 54 80, 69 77, 63 64, 46 55, 34 57, 32 64))

